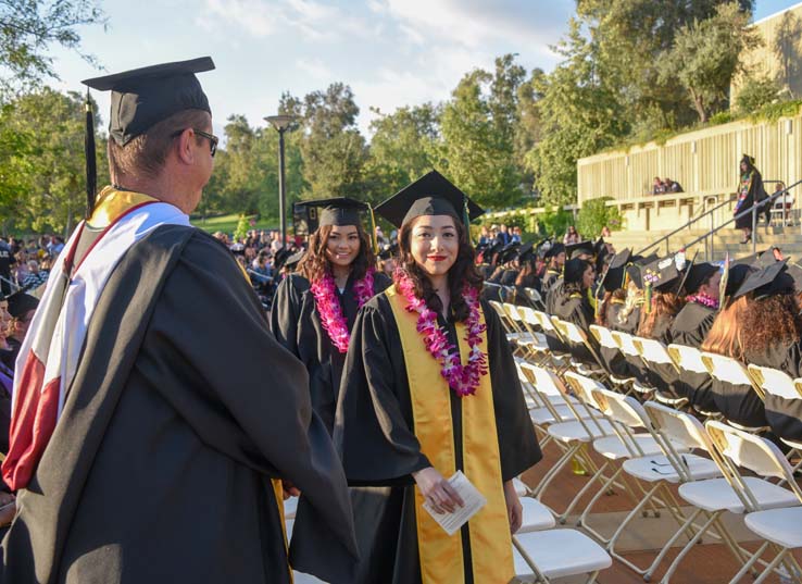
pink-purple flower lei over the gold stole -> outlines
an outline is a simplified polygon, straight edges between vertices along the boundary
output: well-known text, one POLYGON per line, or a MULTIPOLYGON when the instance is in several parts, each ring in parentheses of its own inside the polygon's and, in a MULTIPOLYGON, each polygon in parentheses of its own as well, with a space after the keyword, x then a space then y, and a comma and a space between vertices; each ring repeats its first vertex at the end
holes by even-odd
POLYGON ((405 272, 399 270, 394 274, 396 284, 406 299, 406 311, 417 312, 417 332, 423 335, 426 350, 440 363, 440 375, 449 387, 460 397, 476 393, 481 375, 487 375, 487 356, 481 352, 479 345, 481 335, 487 328, 481 324, 479 294, 476 288, 465 286, 463 297, 468 307, 468 318, 465 321, 467 336, 465 340, 469 347, 466 365, 460 362, 460 351, 449 343, 446 333, 437 324, 437 313, 430 310, 424 300, 415 296, 415 287, 405 272))

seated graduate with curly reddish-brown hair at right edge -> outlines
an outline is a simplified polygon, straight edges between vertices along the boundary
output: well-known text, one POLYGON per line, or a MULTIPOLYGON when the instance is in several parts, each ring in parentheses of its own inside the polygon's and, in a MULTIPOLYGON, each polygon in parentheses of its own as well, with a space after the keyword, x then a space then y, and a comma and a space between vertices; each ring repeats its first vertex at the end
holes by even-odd
MULTIPOLYGON (((802 316, 786 261, 751 273, 735 294, 703 345, 744 363, 769 366, 790 377, 802 375, 802 316)), ((767 394, 765 403, 751 386, 713 381, 714 398, 727 420, 747 426, 769 425, 779 437, 802 438, 802 401, 767 394)))

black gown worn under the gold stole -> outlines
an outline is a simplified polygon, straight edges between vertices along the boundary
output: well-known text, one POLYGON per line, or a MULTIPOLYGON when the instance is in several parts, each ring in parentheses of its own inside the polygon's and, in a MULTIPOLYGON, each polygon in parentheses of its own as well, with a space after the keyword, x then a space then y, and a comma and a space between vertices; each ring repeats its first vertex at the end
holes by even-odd
MULTIPOLYGON (((421 569, 412 473, 430 467, 414 434, 404 355, 389 299, 378 295, 360 311, 337 405, 335 443, 352 489, 362 562, 356 584, 419 584, 421 569)), ((527 415, 510 346, 496 312, 481 303, 487 322, 501 474, 511 480, 541 458, 527 415)), ((449 340, 455 327, 440 319, 449 340)), ((456 468, 462 469, 462 399, 451 395, 456 468)), ((471 566, 467 525, 462 530, 471 566)), ((466 584, 473 582, 466 569, 466 584)), ((443 583, 446 584, 446 583, 443 583)))

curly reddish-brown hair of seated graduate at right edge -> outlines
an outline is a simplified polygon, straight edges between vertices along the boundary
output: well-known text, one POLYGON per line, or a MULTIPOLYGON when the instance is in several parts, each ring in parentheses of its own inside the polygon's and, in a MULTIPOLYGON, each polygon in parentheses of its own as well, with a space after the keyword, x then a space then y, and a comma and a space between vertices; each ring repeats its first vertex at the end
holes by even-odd
POLYGON ((749 310, 737 326, 749 334, 740 335, 744 356, 765 351, 767 347, 785 347, 802 337, 802 315, 793 294, 775 294, 751 300, 749 310))

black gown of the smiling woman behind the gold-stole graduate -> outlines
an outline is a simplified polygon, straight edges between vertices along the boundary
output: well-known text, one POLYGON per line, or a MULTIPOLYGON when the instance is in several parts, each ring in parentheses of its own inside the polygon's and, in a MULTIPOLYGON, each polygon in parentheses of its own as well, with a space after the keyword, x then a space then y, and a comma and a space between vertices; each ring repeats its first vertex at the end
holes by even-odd
MULTIPOLYGON (((336 290, 349 331, 353 328, 359 311, 353 285, 353 277, 349 277, 342 294, 336 290)), ((385 274, 374 274, 375 294, 389 285, 390 278, 385 274)), ((276 339, 306 366, 312 408, 331 434, 346 353, 334 346, 321 324, 315 297, 305 277, 291 274, 281 281, 273 299, 271 328, 276 339)))

